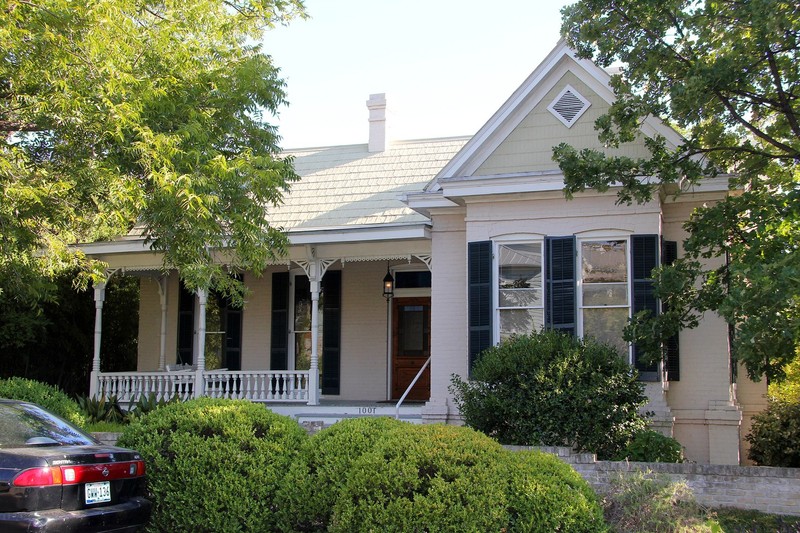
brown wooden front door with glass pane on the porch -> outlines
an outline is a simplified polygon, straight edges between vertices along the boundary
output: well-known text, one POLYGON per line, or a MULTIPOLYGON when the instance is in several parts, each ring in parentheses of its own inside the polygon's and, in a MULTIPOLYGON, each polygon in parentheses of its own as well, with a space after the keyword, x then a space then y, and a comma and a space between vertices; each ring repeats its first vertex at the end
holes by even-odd
MULTIPOLYGON (((392 398, 397 400, 431 355, 431 299, 395 298, 392 301, 392 398)), ((411 389, 407 400, 431 396, 430 365, 411 389)))

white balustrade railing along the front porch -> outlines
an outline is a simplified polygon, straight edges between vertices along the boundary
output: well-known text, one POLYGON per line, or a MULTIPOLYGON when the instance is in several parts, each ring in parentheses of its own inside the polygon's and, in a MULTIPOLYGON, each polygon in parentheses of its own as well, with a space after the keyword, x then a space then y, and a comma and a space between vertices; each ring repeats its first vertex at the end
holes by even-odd
POLYGON ((244 399, 254 402, 308 402, 307 370, 206 370, 202 387, 197 386, 197 372, 105 372, 98 376, 98 396, 116 396, 123 407, 142 397, 157 400, 197 396, 244 399))

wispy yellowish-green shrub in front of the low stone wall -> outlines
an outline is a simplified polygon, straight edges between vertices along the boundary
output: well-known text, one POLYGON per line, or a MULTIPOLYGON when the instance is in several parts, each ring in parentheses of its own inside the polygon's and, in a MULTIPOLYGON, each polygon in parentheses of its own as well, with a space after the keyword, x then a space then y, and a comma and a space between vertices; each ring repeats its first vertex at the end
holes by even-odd
POLYGON ((620 532, 720 531, 685 482, 649 472, 624 473, 612 480, 604 512, 611 528, 620 532))

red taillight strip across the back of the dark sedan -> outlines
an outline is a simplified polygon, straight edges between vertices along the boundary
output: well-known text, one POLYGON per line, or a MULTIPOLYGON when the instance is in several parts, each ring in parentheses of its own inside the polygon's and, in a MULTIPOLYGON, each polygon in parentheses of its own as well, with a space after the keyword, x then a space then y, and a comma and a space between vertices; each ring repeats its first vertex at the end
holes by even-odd
POLYGON ((144 472, 144 461, 30 468, 17 474, 11 484, 15 487, 74 485, 76 483, 141 477, 144 472))

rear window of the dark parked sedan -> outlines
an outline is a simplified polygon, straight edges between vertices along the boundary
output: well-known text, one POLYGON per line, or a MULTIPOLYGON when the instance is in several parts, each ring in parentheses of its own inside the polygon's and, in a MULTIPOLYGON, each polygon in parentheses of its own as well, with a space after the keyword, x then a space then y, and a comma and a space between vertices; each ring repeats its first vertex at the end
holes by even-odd
POLYGON ((0 448, 95 444, 80 430, 31 404, 0 403, 0 448))

